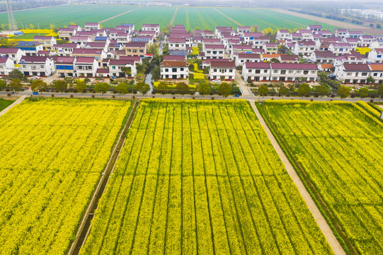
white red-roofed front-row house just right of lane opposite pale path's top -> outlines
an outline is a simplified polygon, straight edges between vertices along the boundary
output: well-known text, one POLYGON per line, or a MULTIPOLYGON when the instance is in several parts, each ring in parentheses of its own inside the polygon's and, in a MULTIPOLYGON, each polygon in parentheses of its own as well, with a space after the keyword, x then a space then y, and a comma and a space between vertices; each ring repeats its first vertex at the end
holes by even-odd
POLYGON ((242 77, 244 77, 245 81, 249 77, 251 81, 269 81, 270 71, 270 63, 246 62, 242 67, 242 77))

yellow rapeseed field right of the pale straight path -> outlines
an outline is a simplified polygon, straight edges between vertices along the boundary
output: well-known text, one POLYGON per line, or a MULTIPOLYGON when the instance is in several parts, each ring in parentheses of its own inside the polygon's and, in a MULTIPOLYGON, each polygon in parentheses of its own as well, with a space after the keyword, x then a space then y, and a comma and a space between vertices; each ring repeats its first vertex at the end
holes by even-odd
POLYGON ((381 254, 383 124, 353 103, 270 101, 265 111, 350 249, 381 254))

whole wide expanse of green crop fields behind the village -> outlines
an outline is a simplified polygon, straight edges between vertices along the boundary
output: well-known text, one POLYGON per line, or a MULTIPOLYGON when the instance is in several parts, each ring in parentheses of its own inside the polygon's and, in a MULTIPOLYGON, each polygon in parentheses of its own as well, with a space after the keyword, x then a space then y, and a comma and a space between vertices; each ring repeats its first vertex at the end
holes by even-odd
MULTIPOLYGON (((212 7, 176 7, 176 6, 107 6, 107 5, 78 5, 68 4, 25 11, 15 11, 14 15, 18 26, 35 28, 49 28, 50 24, 64 27, 74 22, 81 26, 86 22, 99 22, 126 11, 135 9, 103 23, 104 27, 114 27, 120 23, 135 23, 137 29, 142 28, 142 23, 159 23, 161 27, 171 23, 176 9, 173 24, 185 25, 187 30, 208 28, 214 30, 215 26, 242 26, 258 25, 264 28, 306 28, 307 25, 316 23, 306 18, 278 13, 272 9, 262 8, 212 8, 212 7), (219 13, 220 11, 221 13, 219 13), (229 18, 222 15, 222 13, 229 18)), ((7 13, 0 13, 0 23, 8 23, 7 13)), ((335 27, 321 23, 324 28, 333 30, 335 27)))

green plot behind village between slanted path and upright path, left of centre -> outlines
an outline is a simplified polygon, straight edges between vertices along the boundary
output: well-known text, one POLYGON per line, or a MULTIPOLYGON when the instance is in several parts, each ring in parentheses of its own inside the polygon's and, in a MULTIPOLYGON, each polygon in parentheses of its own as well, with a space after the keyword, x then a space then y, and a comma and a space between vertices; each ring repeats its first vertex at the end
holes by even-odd
POLYGON ((136 29, 142 29, 142 24, 159 24, 162 28, 170 24, 175 11, 174 7, 137 8, 135 11, 103 22, 103 26, 112 27, 121 23, 134 23, 136 29))

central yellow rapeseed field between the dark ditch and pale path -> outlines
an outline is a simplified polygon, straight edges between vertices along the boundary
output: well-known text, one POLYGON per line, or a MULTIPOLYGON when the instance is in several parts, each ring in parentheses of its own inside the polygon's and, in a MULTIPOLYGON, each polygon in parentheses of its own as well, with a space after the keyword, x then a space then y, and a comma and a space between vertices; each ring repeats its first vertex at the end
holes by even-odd
POLYGON ((144 100, 80 254, 331 254, 246 101, 144 100))

